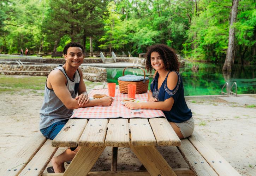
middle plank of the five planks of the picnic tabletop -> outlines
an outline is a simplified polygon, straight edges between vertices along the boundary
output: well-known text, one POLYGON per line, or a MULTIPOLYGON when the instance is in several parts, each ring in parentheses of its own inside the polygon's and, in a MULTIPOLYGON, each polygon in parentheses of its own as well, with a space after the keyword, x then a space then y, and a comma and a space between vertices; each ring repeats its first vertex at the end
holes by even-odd
POLYGON ((112 147, 130 146, 128 119, 109 120, 105 145, 112 147))

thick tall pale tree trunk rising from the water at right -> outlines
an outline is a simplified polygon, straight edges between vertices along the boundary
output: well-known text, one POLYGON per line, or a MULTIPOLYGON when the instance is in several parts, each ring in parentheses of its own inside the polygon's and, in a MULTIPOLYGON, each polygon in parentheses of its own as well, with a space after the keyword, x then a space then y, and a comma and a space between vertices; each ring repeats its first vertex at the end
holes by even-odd
POLYGON ((225 59, 225 63, 222 67, 222 71, 232 71, 233 68, 233 58, 234 58, 234 42, 235 42, 235 29, 233 23, 237 20, 237 9, 238 9, 238 0, 233 0, 232 9, 231 9, 231 20, 229 28, 229 37, 228 37, 228 49, 225 59))

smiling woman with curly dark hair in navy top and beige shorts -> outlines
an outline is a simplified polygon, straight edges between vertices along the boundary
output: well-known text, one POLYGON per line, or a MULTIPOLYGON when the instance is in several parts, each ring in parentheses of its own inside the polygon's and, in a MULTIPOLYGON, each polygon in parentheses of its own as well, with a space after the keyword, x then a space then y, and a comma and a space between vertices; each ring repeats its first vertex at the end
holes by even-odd
POLYGON ((150 73, 155 70, 148 102, 127 102, 125 106, 129 109, 162 110, 178 137, 189 137, 194 131, 194 120, 185 101, 175 51, 163 44, 151 46, 146 54, 145 66, 150 73))

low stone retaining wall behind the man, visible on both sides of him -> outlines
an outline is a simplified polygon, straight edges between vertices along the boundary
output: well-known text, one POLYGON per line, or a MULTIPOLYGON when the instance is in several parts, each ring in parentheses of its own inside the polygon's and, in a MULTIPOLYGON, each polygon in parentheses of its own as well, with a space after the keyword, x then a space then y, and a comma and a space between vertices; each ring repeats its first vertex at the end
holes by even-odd
MULTIPOLYGON (((9 65, 0 64, 0 73, 6 75, 34 75, 47 76, 50 70, 58 67, 56 65, 9 65)), ((83 78, 90 81, 107 81, 106 68, 81 66, 83 78)))

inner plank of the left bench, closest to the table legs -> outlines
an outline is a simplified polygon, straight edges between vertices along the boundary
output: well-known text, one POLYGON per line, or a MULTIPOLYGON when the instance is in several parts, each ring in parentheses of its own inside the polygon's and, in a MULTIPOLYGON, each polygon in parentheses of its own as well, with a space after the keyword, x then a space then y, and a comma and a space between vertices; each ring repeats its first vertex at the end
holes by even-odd
POLYGON ((51 144, 52 140, 47 139, 41 149, 36 153, 36 155, 31 159, 31 161, 26 165, 19 175, 41 175, 58 149, 58 147, 52 147, 51 144))

